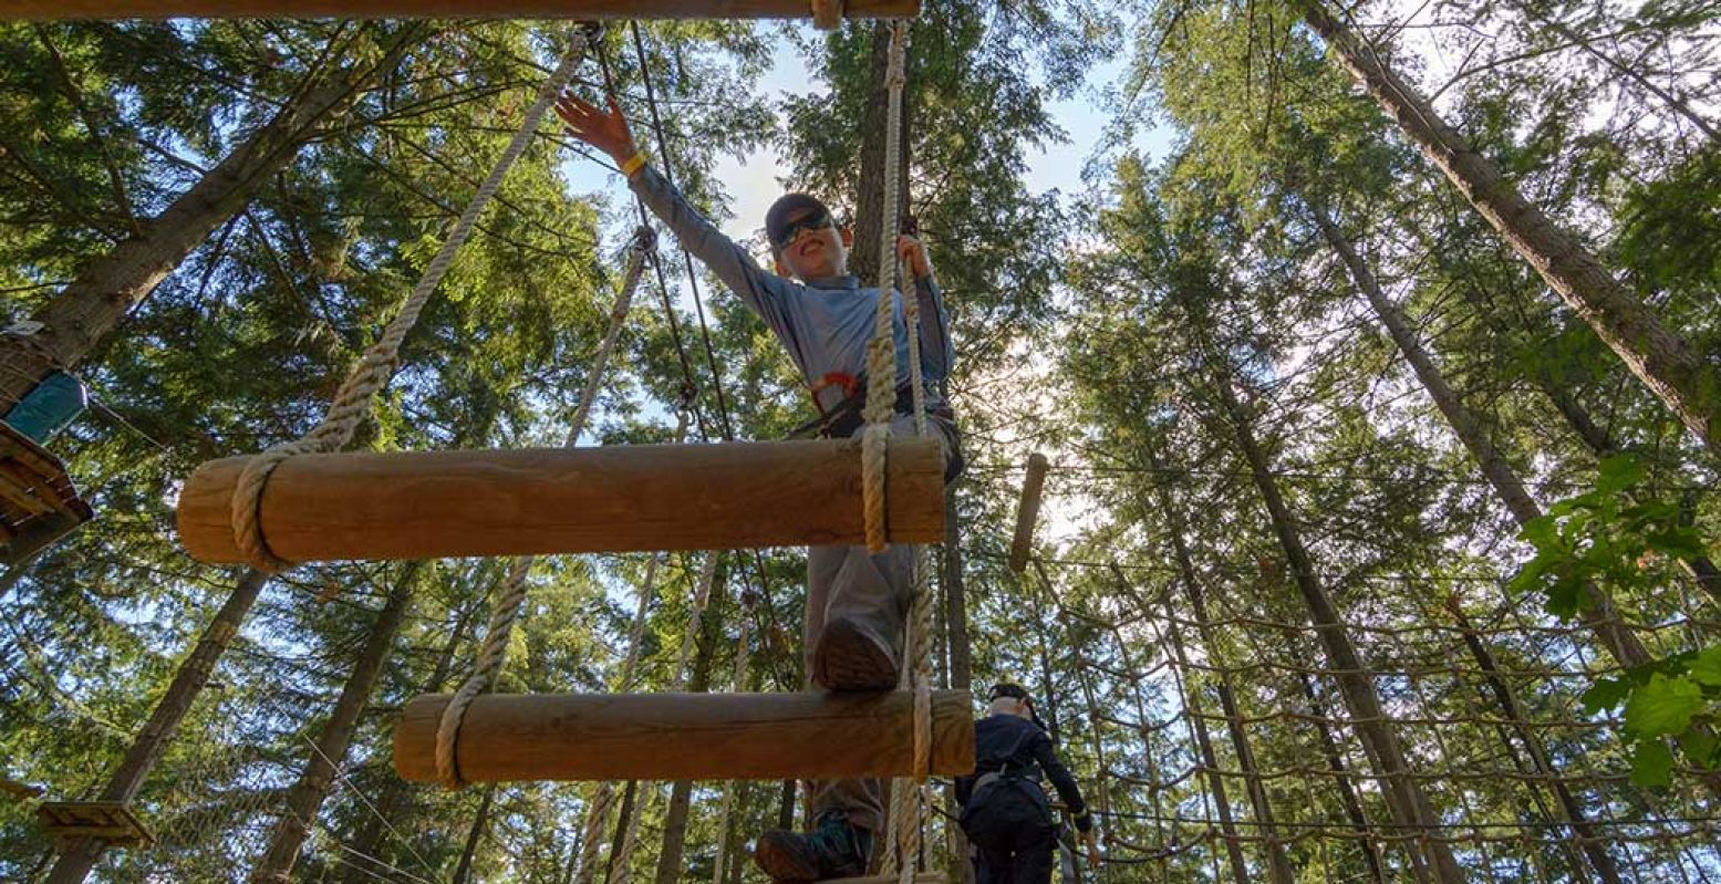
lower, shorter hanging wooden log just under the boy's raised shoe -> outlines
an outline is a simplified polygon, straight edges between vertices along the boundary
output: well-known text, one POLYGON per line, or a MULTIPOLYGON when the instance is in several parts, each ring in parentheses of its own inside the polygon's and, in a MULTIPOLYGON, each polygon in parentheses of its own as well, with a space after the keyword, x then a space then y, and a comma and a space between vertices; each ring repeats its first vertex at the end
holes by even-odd
MULTIPOLYGON (((406 703, 394 769, 435 781, 447 695, 406 703)), ((542 779, 831 779, 905 776, 914 695, 618 693, 485 695, 461 726, 468 783, 542 779)), ((974 770, 967 691, 933 691, 933 774, 974 770)))

